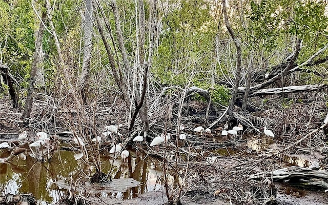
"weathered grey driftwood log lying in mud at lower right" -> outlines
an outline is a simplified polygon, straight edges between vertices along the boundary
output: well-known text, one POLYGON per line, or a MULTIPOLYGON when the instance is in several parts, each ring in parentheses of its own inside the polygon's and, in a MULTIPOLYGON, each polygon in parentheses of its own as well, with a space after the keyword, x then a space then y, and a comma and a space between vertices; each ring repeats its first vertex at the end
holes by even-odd
POLYGON ((320 187, 328 189, 328 172, 325 170, 313 170, 310 168, 288 167, 273 172, 261 172, 253 174, 250 179, 260 180, 263 177, 273 179, 275 181, 289 180, 292 183, 304 187, 320 187))

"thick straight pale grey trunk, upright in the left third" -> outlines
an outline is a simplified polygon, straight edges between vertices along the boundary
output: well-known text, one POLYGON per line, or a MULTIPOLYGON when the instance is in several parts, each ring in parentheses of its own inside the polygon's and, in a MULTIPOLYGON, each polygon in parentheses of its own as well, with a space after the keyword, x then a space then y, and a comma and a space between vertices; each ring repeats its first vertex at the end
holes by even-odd
POLYGON ((86 11, 84 18, 84 58, 82 64, 81 76, 79 79, 79 85, 81 86, 81 97, 83 103, 87 104, 87 92, 89 83, 89 71, 92 51, 92 16, 93 16, 93 4, 92 0, 85 0, 86 11))

